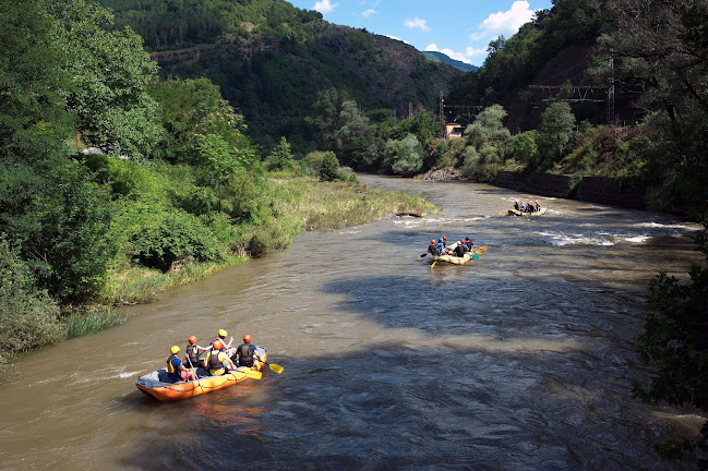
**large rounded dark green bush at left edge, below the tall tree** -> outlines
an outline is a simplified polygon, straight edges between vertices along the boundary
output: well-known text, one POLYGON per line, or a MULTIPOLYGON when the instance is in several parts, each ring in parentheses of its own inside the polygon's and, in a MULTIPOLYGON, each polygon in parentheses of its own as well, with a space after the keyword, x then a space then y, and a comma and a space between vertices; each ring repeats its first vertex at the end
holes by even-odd
POLYGON ((85 168, 56 157, 0 164, 0 231, 33 269, 39 289, 60 302, 89 300, 116 250, 106 237, 110 208, 85 168))

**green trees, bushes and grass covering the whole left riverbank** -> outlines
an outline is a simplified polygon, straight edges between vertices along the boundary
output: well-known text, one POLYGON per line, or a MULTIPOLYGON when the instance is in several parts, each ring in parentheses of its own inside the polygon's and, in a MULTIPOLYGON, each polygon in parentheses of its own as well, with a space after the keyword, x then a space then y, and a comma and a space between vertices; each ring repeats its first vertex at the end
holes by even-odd
POLYGON ((302 229, 436 210, 360 185, 332 152, 262 150, 216 85, 158 80, 111 24, 81 0, 0 1, 1 377, 13 354, 123 322, 110 306, 302 229))

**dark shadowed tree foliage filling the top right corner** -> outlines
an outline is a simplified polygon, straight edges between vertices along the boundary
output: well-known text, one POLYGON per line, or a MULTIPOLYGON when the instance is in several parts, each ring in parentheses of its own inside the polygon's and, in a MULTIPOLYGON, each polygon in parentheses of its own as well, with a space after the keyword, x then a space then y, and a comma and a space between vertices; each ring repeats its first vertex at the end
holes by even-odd
POLYGON ((599 11, 613 24, 595 72, 640 93, 646 110, 680 120, 695 107, 708 112, 708 4, 703 0, 604 1, 599 11), (613 58, 614 68, 609 68, 613 58))

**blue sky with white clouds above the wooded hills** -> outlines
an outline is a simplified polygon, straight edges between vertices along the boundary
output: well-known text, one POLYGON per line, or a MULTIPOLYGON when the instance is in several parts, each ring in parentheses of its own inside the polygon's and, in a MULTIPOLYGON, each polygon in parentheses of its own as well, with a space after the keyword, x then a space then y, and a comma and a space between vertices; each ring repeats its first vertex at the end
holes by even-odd
POLYGON ((487 46, 499 36, 509 38, 550 9, 551 0, 288 0, 316 10, 325 21, 388 36, 421 51, 440 51, 481 67, 487 46))

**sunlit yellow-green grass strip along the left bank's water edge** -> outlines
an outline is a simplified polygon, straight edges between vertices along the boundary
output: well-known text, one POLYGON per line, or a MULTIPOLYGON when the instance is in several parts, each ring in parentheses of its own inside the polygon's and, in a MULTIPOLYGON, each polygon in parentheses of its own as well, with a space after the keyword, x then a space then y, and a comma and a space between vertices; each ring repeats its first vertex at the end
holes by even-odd
POLYGON ((123 261, 111 270, 101 291, 101 304, 149 302, 166 289, 207 278, 252 256, 285 249, 302 230, 359 226, 404 210, 423 214, 439 210, 423 198, 405 193, 372 190, 352 182, 321 182, 313 177, 268 178, 267 188, 273 197, 274 217, 267 224, 247 225, 235 231, 233 238, 227 241, 231 252, 221 261, 173 263, 167 271, 123 261), (250 253, 249 249, 256 252, 250 253))

